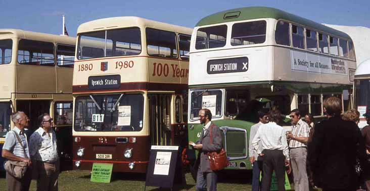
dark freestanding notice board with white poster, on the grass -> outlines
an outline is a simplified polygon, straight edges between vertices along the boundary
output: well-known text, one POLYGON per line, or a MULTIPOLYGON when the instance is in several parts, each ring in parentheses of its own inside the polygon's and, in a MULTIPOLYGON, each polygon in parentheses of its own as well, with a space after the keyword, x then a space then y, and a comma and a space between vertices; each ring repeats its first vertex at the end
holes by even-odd
POLYGON ((178 146, 152 146, 145 186, 172 188, 177 155, 178 146))

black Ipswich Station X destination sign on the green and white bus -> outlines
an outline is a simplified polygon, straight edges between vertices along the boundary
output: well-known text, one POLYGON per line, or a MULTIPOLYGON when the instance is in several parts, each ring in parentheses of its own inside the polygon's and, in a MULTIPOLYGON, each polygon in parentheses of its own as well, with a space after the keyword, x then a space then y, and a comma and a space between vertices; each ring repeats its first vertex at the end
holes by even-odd
POLYGON ((216 59, 207 62, 208 74, 233 73, 248 71, 248 58, 216 59))

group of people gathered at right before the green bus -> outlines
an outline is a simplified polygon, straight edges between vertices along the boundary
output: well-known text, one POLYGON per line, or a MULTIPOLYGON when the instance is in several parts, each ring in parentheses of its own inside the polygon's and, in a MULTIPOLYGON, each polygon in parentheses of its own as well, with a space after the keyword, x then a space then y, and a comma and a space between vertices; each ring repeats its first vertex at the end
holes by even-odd
POLYGON ((360 130, 359 112, 341 111, 341 100, 327 98, 327 119, 313 123, 312 115, 291 111, 291 131, 279 125, 281 113, 259 111, 251 127, 249 156, 253 165, 252 190, 270 190, 275 172, 279 190, 285 190, 285 173, 292 172, 295 190, 370 190, 370 112, 360 130), (262 172, 262 180, 259 176, 262 172))

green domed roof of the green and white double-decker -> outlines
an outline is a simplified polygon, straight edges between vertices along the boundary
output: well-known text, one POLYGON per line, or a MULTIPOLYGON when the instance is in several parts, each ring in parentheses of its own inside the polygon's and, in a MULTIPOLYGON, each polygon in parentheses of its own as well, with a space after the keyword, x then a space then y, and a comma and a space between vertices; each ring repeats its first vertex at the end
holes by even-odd
POLYGON ((232 21, 243 21, 243 20, 250 20, 250 19, 263 19, 263 18, 272 18, 272 19, 283 19, 286 21, 291 21, 297 24, 301 24, 313 29, 321 30, 322 32, 328 32, 333 35, 351 39, 351 37, 339 30, 327 27, 320 23, 311 21, 309 19, 305 19, 303 17, 299 17, 285 11, 269 8, 269 7, 245 7, 245 8, 238 8, 238 9, 230 9, 226 11, 221 11, 210 16, 204 17, 200 20, 196 26, 204 26, 204 25, 212 25, 217 23, 225 23, 225 22, 232 22, 232 21))

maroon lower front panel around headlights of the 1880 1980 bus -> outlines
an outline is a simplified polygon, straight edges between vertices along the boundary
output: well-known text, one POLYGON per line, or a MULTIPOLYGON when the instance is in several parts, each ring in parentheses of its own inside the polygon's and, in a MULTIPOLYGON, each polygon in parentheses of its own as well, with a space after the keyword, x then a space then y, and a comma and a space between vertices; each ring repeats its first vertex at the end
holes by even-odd
MULTIPOLYGON (((138 172, 145 173, 149 163, 150 137, 136 136, 135 143, 116 143, 116 136, 73 136, 80 137, 80 142, 73 141, 73 170, 91 170, 92 163, 113 163, 114 172, 138 172), (99 138, 103 139, 103 143, 99 138), (105 141, 106 140, 106 141, 105 141), (84 155, 77 156, 77 150, 84 148, 84 155), (124 157, 126 148, 132 148, 132 156, 127 159, 124 157), (112 155, 112 159, 97 159, 97 154, 112 155), (81 166, 76 167, 75 162, 80 161, 81 166), (134 162, 132 170, 128 168, 128 163, 134 162)), ((120 136, 127 137, 128 136, 120 136)))

